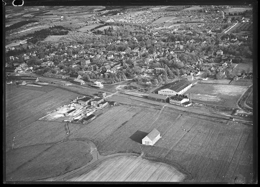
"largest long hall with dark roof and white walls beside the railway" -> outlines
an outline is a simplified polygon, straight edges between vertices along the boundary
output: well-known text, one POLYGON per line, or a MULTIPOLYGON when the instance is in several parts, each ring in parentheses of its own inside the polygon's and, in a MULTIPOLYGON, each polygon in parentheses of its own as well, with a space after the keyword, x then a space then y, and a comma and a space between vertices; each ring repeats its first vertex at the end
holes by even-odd
POLYGON ((160 88, 158 91, 158 94, 161 95, 176 95, 176 94, 182 94, 186 92, 188 89, 192 87, 192 83, 181 79, 172 83, 169 83, 167 85, 164 85, 160 88))

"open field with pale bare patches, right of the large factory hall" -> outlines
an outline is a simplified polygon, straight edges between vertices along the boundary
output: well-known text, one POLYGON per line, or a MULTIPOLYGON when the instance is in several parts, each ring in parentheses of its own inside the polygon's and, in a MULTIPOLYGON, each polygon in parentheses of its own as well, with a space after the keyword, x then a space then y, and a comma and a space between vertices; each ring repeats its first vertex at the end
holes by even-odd
POLYGON ((246 86, 199 83, 184 94, 192 93, 193 99, 233 108, 236 107, 237 100, 245 90, 247 90, 246 86))

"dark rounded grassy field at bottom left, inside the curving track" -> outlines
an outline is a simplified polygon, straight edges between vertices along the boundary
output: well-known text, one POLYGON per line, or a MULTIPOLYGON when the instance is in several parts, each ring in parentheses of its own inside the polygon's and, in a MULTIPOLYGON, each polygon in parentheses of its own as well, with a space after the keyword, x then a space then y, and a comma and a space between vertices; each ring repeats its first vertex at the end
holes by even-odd
POLYGON ((10 150, 6 155, 7 181, 33 181, 57 176, 92 160, 84 141, 39 144, 10 150))

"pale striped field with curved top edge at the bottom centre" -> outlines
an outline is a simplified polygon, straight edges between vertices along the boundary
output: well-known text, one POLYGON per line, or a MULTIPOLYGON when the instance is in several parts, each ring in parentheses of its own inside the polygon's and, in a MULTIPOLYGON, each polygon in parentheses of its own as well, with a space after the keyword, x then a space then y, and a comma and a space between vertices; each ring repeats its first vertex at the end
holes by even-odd
POLYGON ((68 181, 180 182, 184 175, 174 167, 134 156, 119 156, 100 163, 97 168, 68 181))

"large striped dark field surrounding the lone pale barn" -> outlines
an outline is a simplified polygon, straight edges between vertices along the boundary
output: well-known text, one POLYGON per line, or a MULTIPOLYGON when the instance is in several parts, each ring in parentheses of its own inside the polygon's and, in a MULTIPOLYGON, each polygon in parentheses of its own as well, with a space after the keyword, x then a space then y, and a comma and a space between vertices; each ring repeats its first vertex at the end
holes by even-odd
MULTIPOLYGON (((250 180, 251 126, 180 115, 167 107, 120 105, 107 110, 70 138, 82 137, 95 141, 102 155, 143 151, 145 158, 171 164, 190 176, 185 181, 250 180), (155 146, 141 145, 141 139, 153 128, 159 130, 162 138, 155 146)), ((87 180, 97 171, 92 172, 85 175, 87 180)))

